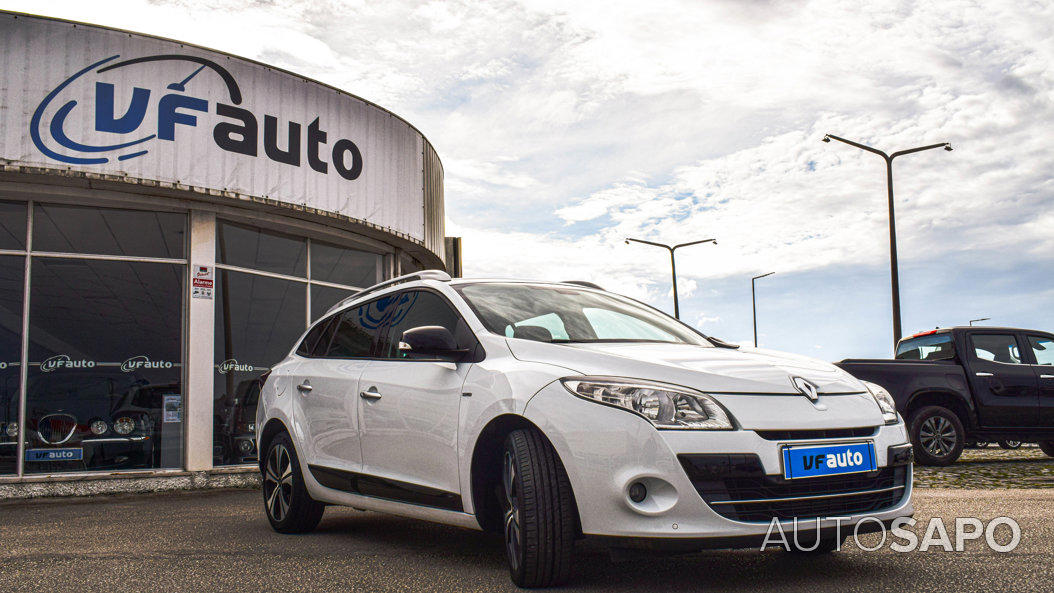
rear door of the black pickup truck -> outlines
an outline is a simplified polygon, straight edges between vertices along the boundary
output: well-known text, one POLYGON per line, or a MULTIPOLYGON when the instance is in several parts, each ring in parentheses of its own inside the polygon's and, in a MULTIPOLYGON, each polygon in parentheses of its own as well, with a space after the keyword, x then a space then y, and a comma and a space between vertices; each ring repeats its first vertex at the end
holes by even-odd
POLYGON ((1034 427, 1039 423, 1038 379, 1026 344, 1013 332, 977 332, 967 336, 970 386, 981 426, 1034 427))

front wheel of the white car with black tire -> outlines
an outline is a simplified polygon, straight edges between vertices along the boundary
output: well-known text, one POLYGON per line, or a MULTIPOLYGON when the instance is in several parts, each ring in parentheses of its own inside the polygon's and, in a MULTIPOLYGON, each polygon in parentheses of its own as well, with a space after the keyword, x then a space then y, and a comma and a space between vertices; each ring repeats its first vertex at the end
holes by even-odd
POLYGON ((566 582, 577 533, 574 496, 563 463, 538 430, 506 437, 501 498, 512 582, 524 588, 566 582))

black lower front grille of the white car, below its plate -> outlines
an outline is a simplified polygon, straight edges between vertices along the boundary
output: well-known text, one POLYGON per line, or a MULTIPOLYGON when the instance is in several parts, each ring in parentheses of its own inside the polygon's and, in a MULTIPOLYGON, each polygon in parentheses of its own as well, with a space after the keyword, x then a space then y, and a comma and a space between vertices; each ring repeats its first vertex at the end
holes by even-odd
POLYGON ((740 521, 835 517, 892 508, 907 486, 909 466, 787 480, 765 475, 757 455, 678 455, 711 509, 740 521))

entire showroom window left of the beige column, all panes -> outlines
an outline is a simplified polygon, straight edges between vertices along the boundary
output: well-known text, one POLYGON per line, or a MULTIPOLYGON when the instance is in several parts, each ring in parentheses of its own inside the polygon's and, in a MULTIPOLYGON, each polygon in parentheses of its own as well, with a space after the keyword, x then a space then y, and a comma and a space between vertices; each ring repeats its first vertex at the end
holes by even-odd
POLYGON ((182 466, 186 233, 184 214, 0 202, 0 473, 182 466))

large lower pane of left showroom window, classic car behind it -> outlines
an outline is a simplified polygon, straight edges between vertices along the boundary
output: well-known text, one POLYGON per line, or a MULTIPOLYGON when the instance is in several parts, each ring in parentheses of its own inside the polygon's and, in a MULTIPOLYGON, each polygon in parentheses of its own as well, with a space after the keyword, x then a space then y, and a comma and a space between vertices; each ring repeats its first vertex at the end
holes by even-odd
POLYGON ((181 466, 184 269, 34 259, 26 473, 181 466))

